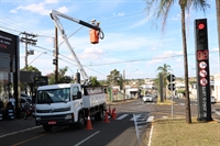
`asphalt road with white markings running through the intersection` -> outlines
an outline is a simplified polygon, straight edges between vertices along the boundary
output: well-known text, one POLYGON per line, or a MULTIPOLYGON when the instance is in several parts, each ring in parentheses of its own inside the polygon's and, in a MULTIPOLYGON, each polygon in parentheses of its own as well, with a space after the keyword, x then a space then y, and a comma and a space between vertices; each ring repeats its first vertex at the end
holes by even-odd
MULTIPOLYGON (((156 100, 156 99, 154 99, 156 100)), ((0 138, 1 146, 145 146, 147 127, 152 120, 185 117, 185 100, 174 99, 175 104, 156 105, 155 102, 118 103, 117 120, 110 123, 91 119, 94 130, 77 130, 75 126, 54 127, 53 132, 33 128, 0 138)), ((197 116, 197 101, 191 100, 191 116, 197 116)), ((108 108, 109 108, 108 106, 108 108)), ((220 104, 212 104, 212 117, 220 121, 220 104)), ((34 123, 34 120, 33 120, 34 123)))

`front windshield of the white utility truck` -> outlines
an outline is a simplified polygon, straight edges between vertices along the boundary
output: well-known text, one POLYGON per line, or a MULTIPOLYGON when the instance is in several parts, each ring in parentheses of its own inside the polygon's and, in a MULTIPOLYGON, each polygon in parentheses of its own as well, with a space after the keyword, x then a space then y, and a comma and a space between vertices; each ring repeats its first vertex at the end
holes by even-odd
POLYGON ((38 90, 36 103, 54 103, 70 101, 70 88, 38 90))

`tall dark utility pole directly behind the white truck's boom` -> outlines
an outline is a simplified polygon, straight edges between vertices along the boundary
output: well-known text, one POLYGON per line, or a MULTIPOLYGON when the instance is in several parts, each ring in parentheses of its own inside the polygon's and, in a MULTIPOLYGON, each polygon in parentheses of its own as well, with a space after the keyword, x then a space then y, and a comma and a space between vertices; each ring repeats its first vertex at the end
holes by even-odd
POLYGON ((55 83, 58 83, 58 31, 55 26, 55 83))

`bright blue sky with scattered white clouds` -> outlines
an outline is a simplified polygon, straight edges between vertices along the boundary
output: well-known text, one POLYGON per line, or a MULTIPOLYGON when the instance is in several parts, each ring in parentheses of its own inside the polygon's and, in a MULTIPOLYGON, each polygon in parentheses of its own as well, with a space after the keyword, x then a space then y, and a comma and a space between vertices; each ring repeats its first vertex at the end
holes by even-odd
MULTIPOLYGON (((186 14, 189 77, 196 76, 195 19, 208 20, 210 75, 219 72, 216 3, 209 3, 206 14, 194 9, 186 14)), ((184 77, 180 10, 177 3, 172 7, 165 32, 162 33, 161 21, 147 15, 144 0, 0 0, 0 30, 15 35, 21 32, 38 35, 36 46, 29 46, 29 50, 34 49, 35 54, 30 55, 28 61, 42 75, 55 70, 52 64, 55 25, 50 16, 51 10, 86 22, 92 19, 100 22, 105 38, 94 45, 89 42, 88 27, 61 18, 67 36, 75 33, 69 42, 88 76, 106 79, 111 70, 117 69, 121 74, 125 70, 128 79, 155 78, 157 67, 167 64, 176 77, 184 77)), ((73 76, 78 67, 61 34, 58 36, 58 66, 67 66, 67 75, 73 76)), ((21 68, 24 67, 24 56, 25 47, 20 43, 21 68)))

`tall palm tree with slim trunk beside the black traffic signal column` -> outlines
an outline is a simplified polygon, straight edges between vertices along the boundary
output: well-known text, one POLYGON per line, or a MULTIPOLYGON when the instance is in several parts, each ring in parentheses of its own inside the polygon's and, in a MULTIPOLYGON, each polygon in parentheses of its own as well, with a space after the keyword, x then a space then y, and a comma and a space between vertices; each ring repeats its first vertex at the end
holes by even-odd
MULTIPOLYGON (((165 23, 168 16, 168 12, 170 7, 176 2, 176 0, 145 0, 146 1, 146 10, 155 10, 153 5, 157 5, 156 11, 154 11, 154 16, 156 19, 162 16, 162 30, 165 27, 165 23)), ((200 9, 204 12, 209 4, 208 0, 178 0, 178 4, 180 7, 180 15, 182 15, 182 37, 183 37, 183 52, 184 52, 184 68, 185 68, 185 87, 186 87, 186 122, 191 123, 191 113, 190 113, 190 101, 189 101, 189 89, 188 89, 188 60, 187 60, 187 42, 186 42, 186 23, 185 23, 185 13, 189 12, 190 7, 194 7, 196 10, 200 9)), ((217 0, 218 1, 218 0, 217 0)))

